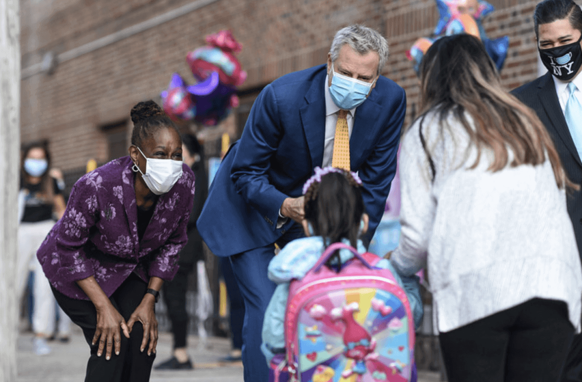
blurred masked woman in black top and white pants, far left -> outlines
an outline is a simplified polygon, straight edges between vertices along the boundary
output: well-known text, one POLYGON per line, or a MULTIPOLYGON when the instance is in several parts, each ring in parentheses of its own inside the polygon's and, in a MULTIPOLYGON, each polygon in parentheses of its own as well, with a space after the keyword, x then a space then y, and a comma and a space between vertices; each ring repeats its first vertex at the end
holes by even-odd
MULTIPOLYGON (((55 330, 55 299, 51 286, 34 254, 47 233, 65 212, 65 199, 56 180, 49 175, 51 154, 48 142, 36 142, 24 147, 20 170, 18 260, 16 269, 17 296, 23 297, 29 270, 34 274, 33 331, 34 352, 48 354, 47 338, 55 330)), ((65 331, 68 318, 62 318, 65 331)), ((68 333, 63 333, 68 334, 68 333)))

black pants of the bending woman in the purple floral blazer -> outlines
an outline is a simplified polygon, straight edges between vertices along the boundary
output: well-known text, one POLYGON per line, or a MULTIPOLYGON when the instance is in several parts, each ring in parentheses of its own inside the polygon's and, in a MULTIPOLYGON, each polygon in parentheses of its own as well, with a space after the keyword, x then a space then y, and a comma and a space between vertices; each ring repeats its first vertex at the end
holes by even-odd
MULTIPOLYGON (((140 304, 147 290, 147 284, 132 273, 123 284, 111 295, 109 300, 113 307, 127 321, 129 316, 140 304)), ((89 300, 76 300, 67 297, 59 291, 52 289, 56 301, 71 320, 83 329, 85 340, 91 348, 91 356, 87 362, 87 374, 85 382, 145 382, 150 380, 151 366, 154 363, 155 354, 147 355, 147 351, 140 352, 143 340, 143 327, 140 322, 133 325, 130 338, 121 334, 121 351, 115 355, 111 352, 111 359, 105 359, 105 349, 100 357, 97 356, 99 344, 91 345, 97 326, 97 312, 93 302, 89 300)), ((147 349, 147 347, 146 347, 147 349)))

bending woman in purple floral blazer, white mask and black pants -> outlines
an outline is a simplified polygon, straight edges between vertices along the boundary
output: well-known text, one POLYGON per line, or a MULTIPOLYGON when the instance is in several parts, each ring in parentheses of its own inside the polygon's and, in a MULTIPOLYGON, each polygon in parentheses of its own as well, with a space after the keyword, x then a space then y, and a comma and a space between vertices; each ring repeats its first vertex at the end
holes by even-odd
POLYGON ((130 156, 75 183, 37 253, 56 300, 90 344, 86 381, 149 380, 155 301, 187 242, 194 174, 182 163, 180 135, 153 101, 131 116, 130 156))

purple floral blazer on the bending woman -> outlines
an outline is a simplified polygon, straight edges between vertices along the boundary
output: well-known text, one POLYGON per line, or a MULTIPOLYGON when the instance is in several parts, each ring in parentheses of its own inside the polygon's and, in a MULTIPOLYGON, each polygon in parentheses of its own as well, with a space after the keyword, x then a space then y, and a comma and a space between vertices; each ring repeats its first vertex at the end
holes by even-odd
POLYGON ((159 196, 139 240, 133 163, 129 156, 83 175, 73 186, 65 215, 37 252, 49 282, 71 298, 88 300, 76 281, 94 276, 108 297, 136 272, 171 280, 178 252, 187 242, 186 224, 194 200, 194 174, 183 174, 159 196))

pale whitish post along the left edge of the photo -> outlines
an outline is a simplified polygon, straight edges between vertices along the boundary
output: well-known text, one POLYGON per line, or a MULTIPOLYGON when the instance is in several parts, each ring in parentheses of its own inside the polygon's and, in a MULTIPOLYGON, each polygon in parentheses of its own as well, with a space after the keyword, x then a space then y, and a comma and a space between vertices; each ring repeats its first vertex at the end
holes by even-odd
POLYGON ((19 1, 0 0, 0 382, 16 380, 19 124, 19 1))

